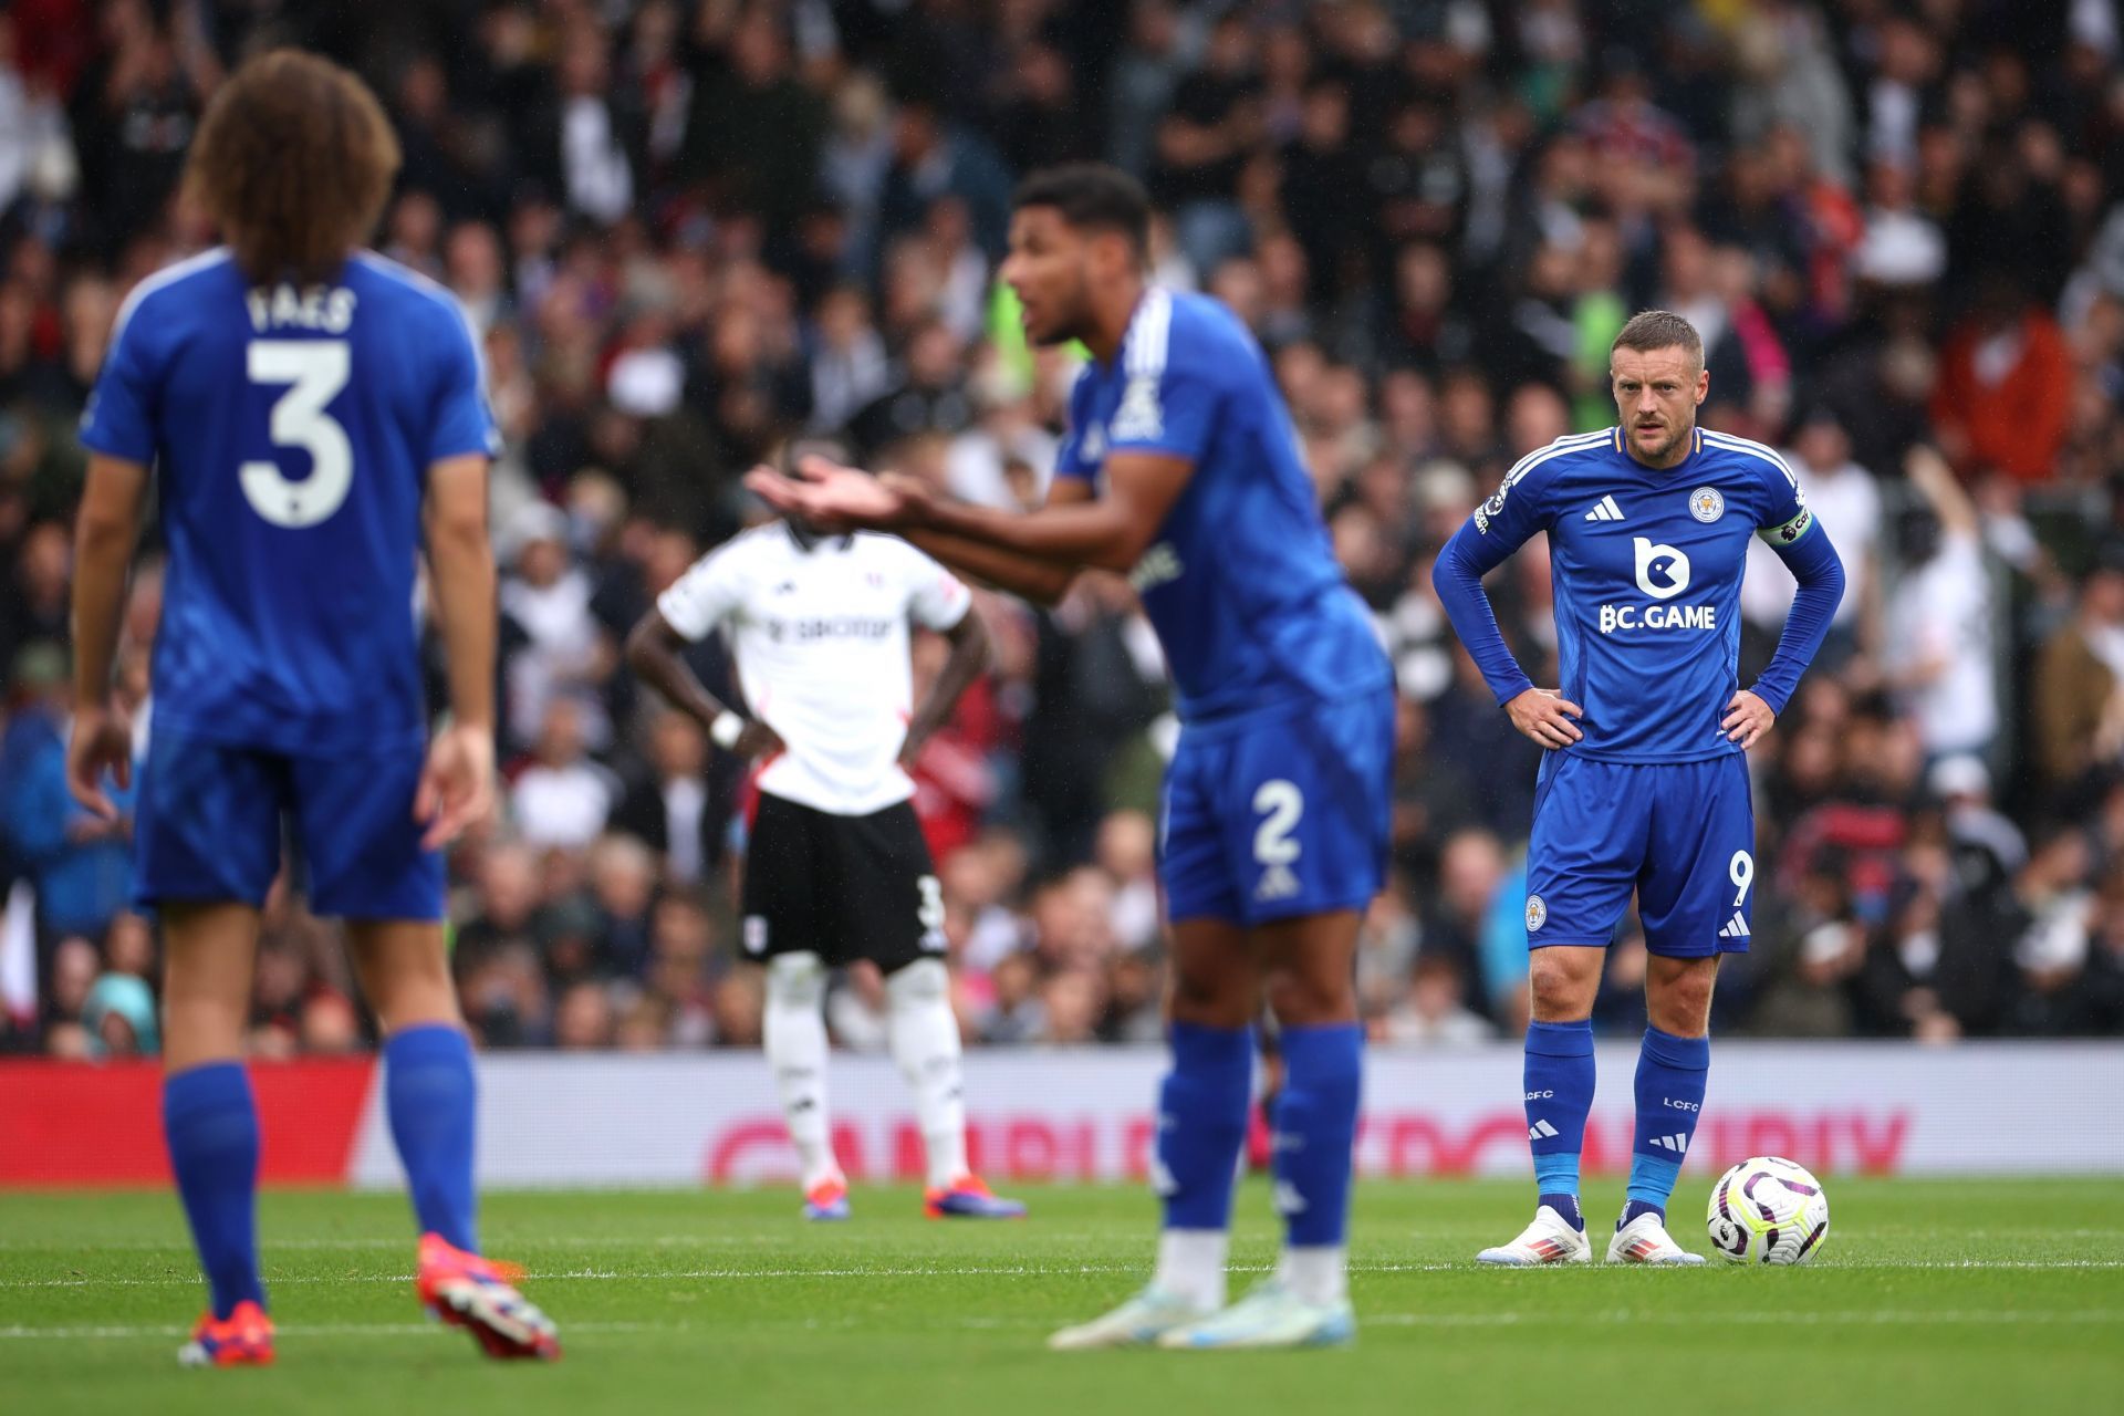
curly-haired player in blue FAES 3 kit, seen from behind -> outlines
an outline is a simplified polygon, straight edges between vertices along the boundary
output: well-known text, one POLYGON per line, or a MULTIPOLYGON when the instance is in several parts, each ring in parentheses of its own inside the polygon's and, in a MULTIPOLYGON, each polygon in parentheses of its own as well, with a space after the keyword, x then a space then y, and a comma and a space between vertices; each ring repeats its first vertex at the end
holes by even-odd
POLYGON ((359 251, 397 142, 353 74, 261 55, 215 96, 187 185, 227 246, 125 299, 81 439, 68 781, 108 813, 132 728, 113 703, 149 484, 168 567, 140 769, 138 896, 166 947, 164 1129, 210 1289, 181 1359, 274 1359, 259 1282, 259 1127, 242 1064, 259 909, 299 845, 384 1028, 384 1102, 421 1225, 418 1297, 495 1357, 552 1323, 478 1255, 474 1070, 442 936, 438 849, 493 805, 495 425, 457 301, 359 251), (450 664, 429 737, 416 577, 450 664))

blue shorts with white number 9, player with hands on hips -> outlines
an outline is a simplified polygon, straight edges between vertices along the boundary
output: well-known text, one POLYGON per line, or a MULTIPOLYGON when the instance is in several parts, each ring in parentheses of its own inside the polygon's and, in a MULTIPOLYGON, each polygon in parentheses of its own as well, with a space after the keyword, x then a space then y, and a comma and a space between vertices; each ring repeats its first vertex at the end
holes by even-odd
POLYGON ((1606 947, 1631 892, 1652 953, 1746 953, 1754 913, 1748 760, 1551 754, 1527 843, 1527 945, 1606 947))

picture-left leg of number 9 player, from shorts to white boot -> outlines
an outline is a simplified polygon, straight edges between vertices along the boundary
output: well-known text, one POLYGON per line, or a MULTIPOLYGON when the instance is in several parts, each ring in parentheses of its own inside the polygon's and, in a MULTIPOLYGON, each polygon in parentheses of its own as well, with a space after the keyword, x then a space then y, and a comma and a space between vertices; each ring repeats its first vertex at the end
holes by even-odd
POLYGON ((1553 756, 1527 843, 1529 1023, 1521 1095, 1534 1153, 1534 1223, 1483 1263, 1585 1263, 1578 1165, 1593 1112, 1593 998, 1644 858, 1638 769, 1553 756))

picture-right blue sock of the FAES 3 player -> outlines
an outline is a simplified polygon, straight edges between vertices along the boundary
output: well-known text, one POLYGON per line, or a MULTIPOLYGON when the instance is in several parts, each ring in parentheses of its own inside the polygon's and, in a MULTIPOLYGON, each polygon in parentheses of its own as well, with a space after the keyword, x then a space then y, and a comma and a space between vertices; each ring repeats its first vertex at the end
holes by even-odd
POLYGON ((384 1108, 423 1233, 478 1253, 472 1140, 478 1083, 461 1028, 429 1023, 384 1042, 384 1108))

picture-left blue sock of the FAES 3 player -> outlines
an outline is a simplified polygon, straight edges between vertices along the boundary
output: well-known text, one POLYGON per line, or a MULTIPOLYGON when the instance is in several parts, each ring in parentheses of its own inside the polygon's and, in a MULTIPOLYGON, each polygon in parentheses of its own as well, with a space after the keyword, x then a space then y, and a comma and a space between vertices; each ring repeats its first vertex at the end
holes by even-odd
POLYGON ((166 1076, 161 1129, 185 1202, 191 1242, 217 1318, 236 1303, 266 1303, 259 1282, 259 1115, 240 1061, 208 1061, 166 1076))

